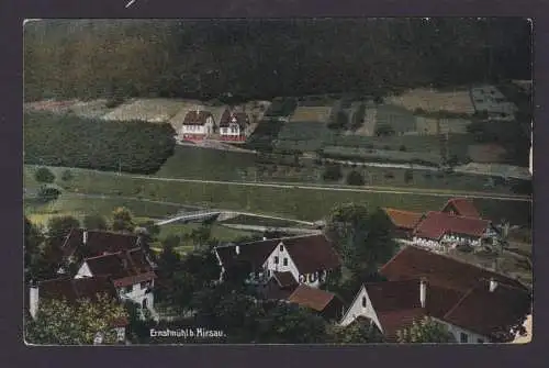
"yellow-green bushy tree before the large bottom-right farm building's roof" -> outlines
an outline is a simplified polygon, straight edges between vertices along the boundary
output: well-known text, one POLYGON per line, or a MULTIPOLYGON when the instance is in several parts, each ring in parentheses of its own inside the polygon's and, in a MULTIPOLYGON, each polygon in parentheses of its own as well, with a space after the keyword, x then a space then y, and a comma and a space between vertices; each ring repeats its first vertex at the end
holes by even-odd
POLYGON ((430 317, 414 321, 411 327, 396 332, 399 343, 404 344, 447 344, 453 343, 453 335, 439 322, 430 317))

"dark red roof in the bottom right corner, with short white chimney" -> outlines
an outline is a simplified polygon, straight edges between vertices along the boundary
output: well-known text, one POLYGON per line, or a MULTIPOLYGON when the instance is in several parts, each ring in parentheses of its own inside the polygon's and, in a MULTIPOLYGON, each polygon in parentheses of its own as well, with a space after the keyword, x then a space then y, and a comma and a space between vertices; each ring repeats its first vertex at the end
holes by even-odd
MULTIPOLYGON (((480 335, 498 338, 524 323, 530 305, 530 295, 525 290, 498 285, 491 292, 485 281, 471 289, 444 320, 480 335)), ((512 339, 514 336, 505 337, 512 339)))

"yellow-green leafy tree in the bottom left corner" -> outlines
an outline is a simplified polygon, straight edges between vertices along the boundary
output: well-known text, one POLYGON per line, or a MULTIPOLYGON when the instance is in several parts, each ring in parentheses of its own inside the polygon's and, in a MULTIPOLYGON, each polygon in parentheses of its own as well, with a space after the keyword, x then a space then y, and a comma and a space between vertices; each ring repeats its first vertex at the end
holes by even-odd
POLYGON ((25 339, 32 344, 91 345, 98 333, 103 344, 115 344, 115 321, 127 317, 124 305, 104 295, 98 300, 41 300, 36 320, 25 320, 25 339))

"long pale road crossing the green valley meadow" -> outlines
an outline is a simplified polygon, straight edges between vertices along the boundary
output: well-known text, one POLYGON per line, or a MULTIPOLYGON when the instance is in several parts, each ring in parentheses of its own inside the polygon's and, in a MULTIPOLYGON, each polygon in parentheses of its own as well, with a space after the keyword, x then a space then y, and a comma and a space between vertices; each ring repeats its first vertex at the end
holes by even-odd
POLYGON ((341 192, 356 192, 356 193, 388 193, 388 194, 411 194, 411 196, 432 196, 432 197, 464 197, 472 199, 493 199, 493 200, 508 200, 519 202, 531 202, 530 196, 523 194, 495 194, 493 192, 482 191, 463 191, 463 190, 449 190, 449 189, 423 189, 423 188, 403 188, 403 187, 380 187, 380 186, 343 186, 343 185, 313 185, 303 182, 269 182, 269 181, 227 181, 227 180, 201 180, 201 179, 182 179, 182 178, 166 178, 154 177, 145 175, 132 174, 117 174, 113 171, 87 170, 78 168, 68 168, 71 170, 79 170, 82 172, 97 172, 107 176, 121 176, 132 179, 141 180, 156 180, 156 181, 171 181, 171 182, 192 182, 202 185, 224 185, 224 186, 239 186, 239 187, 264 187, 276 189, 302 189, 302 190, 323 190, 323 191, 341 191, 341 192))

